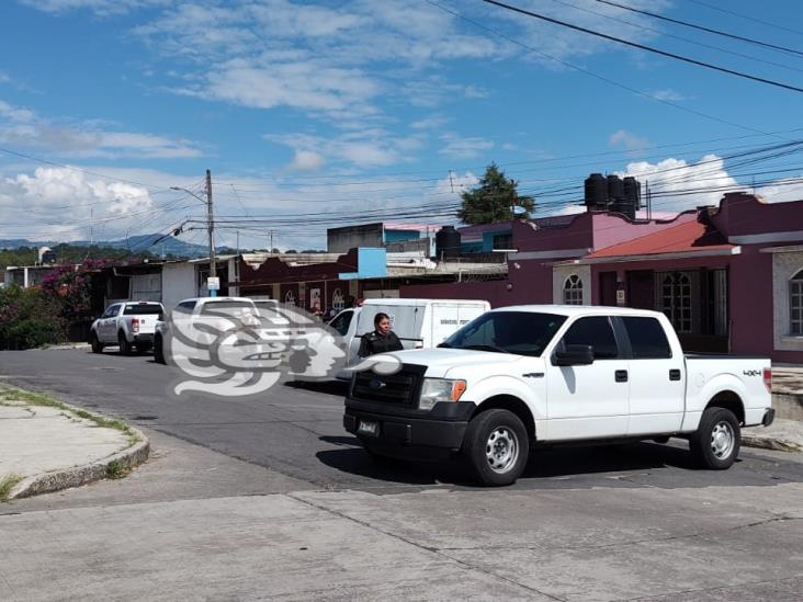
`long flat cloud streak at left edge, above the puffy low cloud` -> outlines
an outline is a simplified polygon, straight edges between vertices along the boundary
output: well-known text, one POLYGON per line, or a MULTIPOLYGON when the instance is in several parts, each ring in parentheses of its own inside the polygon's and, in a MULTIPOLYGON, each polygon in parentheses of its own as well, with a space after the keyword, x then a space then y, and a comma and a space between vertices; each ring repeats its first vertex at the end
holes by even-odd
POLYGON ((47 148, 72 158, 181 159, 203 156, 194 143, 152 134, 104 129, 99 122, 61 124, 0 101, 0 141, 47 148))

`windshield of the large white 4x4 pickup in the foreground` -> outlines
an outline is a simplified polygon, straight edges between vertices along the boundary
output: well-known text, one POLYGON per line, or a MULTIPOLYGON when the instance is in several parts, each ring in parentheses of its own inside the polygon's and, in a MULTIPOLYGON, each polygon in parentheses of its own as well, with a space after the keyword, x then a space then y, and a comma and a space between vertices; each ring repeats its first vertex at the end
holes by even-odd
POLYGON ((438 347, 539 356, 565 321, 566 316, 554 314, 489 311, 438 347))

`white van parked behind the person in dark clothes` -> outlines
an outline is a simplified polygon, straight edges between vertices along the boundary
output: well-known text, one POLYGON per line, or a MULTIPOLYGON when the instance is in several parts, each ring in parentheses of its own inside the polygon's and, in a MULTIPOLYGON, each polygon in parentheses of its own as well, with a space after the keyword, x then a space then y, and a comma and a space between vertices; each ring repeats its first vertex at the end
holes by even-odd
MULTIPOLYGON (((477 299, 365 299, 360 307, 343 309, 329 326, 348 344, 349 366, 359 361, 362 336, 374 330, 376 314, 389 316, 391 329, 405 349, 430 349, 489 309, 488 302, 477 299)), ((343 370, 337 377, 349 379, 351 371, 343 370)))

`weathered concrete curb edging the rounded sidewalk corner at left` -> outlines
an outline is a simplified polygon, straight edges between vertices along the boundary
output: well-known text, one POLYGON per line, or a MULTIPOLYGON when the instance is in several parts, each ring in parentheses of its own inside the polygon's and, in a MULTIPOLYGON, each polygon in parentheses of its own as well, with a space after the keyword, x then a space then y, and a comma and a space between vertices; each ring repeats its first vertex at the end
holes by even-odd
POLYGON ((24 478, 20 481, 9 495, 9 500, 18 498, 30 498, 41 493, 52 493, 61 489, 80 487, 97 480, 106 478, 106 469, 110 462, 116 461, 126 470, 135 468, 146 459, 150 454, 150 441, 145 433, 134 427, 128 427, 139 438, 134 445, 112 454, 101 461, 83 466, 75 466, 66 470, 56 473, 44 473, 24 478))

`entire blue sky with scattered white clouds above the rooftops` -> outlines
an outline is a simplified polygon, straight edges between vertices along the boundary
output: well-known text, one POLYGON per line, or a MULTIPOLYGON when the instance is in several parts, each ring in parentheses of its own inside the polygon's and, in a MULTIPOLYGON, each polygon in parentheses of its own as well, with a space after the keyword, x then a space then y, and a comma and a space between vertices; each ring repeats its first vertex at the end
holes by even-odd
MULTIPOLYGON (((511 3, 803 87, 801 54, 596 0, 511 3)), ((793 0, 619 3, 803 52, 803 7, 793 0)), ((264 219, 240 228, 240 243, 257 247, 272 229, 282 248, 323 248, 317 215, 346 223, 405 211, 416 223, 454 222, 445 214, 462 186, 491 161, 544 214, 577 211, 591 171, 651 180, 667 212, 721 196, 671 194, 690 182, 759 180, 769 201, 803 196, 789 182, 803 174, 794 154, 750 169, 720 160, 803 137, 794 132, 801 93, 476 0, 438 4, 3 2, 0 238, 167 231, 202 215, 199 201, 170 189, 201 194, 207 168, 218 215, 264 219)), ((218 242, 236 236, 223 229, 218 242)), ((203 232, 182 238, 202 242, 203 232)))

